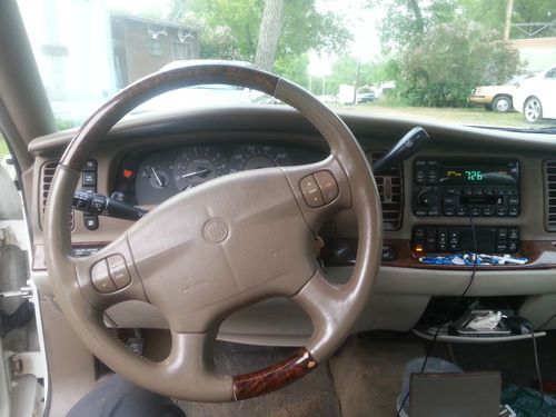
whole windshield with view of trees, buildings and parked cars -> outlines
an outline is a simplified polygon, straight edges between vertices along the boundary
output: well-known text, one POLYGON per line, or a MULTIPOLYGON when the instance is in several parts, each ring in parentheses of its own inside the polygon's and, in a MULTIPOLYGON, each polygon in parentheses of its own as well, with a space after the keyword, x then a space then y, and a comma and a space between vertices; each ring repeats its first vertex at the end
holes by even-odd
MULTIPOLYGON (((556 126, 554 0, 19 0, 60 128, 129 83, 196 59, 278 73, 344 112, 556 126)), ((241 88, 135 112, 280 106, 241 88)))

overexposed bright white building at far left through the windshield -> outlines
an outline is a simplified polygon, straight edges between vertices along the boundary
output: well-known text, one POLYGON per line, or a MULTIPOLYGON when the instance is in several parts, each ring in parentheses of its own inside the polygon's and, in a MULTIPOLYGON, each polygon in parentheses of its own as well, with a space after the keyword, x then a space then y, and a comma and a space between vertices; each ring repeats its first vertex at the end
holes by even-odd
POLYGON ((87 117, 117 91, 106 1, 18 3, 54 115, 63 120, 87 117))

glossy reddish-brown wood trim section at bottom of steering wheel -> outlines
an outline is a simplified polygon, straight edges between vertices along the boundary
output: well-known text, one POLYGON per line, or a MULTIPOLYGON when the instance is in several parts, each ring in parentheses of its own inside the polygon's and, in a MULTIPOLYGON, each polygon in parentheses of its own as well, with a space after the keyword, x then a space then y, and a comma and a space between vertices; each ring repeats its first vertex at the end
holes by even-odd
POLYGON ((289 385, 317 367, 317 361, 302 348, 282 361, 255 373, 234 377, 234 399, 241 400, 271 393, 289 385))

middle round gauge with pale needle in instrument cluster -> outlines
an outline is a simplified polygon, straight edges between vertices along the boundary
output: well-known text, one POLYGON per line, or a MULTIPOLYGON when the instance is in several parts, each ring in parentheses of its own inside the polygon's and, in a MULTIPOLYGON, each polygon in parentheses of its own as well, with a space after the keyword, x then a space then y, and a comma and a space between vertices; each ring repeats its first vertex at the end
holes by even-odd
POLYGON ((206 182, 227 172, 222 152, 211 146, 189 147, 180 151, 173 165, 173 181, 179 191, 206 182))

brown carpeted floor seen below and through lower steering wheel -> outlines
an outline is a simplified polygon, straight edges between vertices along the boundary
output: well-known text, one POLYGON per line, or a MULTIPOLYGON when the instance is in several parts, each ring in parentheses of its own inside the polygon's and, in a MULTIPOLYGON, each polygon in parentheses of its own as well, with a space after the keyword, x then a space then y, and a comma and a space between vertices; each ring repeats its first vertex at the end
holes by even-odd
MULTIPOLYGON (((260 369, 294 349, 218 342, 215 363, 222 374, 238 375, 260 369)), ((238 403, 179 401, 187 417, 339 417, 340 408, 328 368, 320 365, 300 380, 278 391, 238 403)))

